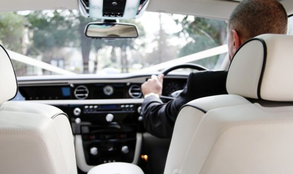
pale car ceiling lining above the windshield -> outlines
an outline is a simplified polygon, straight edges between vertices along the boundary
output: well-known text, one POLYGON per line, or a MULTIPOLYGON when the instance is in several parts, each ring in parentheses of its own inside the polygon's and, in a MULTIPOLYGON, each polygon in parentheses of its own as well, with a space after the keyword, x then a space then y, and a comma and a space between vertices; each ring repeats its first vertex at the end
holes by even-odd
MULTIPOLYGON (((189 14, 227 19, 242 0, 150 0, 147 11, 189 14)), ((293 1, 281 0, 288 15, 293 14, 293 1)), ((77 0, 9 0, 1 2, 0 11, 78 9, 77 0)))

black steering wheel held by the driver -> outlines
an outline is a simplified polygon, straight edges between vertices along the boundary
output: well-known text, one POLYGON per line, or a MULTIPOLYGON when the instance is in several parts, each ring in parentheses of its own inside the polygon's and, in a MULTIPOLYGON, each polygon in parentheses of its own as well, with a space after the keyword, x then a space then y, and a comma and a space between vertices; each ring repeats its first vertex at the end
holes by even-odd
MULTIPOLYGON (((189 68, 189 69, 194 69, 194 70, 198 70, 198 71, 206 71, 208 70, 207 68, 200 66, 199 64, 194 64, 194 63, 184 63, 184 64, 179 64, 177 66, 165 69, 162 74, 164 76, 166 76, 168 73, 170 73, 171 71, 174 70, 178 70, 178 69, 182 69, 182 68, 189 68)), ((179 90, 179 91, 175 91, 173 92, 171 95, 172 97, 169 96, 160 96, 160 98, 162 100, 173 100, 175 98, 177 98, 179 96, 179 94, 182 92, 183 90, 179 90)))

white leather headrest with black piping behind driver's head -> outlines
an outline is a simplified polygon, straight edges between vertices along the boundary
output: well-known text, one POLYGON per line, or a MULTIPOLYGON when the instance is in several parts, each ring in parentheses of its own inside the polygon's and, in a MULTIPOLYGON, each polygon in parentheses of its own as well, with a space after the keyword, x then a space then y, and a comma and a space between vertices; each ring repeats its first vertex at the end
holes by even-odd
POLYGON ((293 101, 293 36, 264 34, 245 42, 229 68, 229 94, 293 101))

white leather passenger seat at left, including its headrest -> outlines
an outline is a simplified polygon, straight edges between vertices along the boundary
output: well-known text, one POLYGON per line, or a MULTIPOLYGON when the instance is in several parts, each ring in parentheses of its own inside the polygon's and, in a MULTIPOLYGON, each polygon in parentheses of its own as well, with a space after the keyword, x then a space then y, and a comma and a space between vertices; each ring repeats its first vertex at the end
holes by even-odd
POLYGON ((0 173, 76 174, 67 115, 49 105, 8 101, 17 82, 2 46, 0 83, 0 173))

